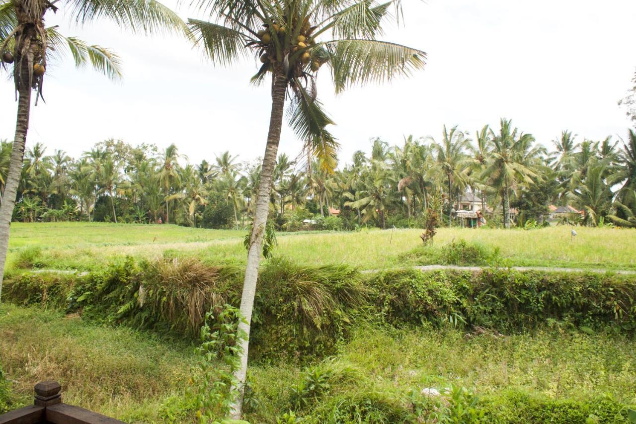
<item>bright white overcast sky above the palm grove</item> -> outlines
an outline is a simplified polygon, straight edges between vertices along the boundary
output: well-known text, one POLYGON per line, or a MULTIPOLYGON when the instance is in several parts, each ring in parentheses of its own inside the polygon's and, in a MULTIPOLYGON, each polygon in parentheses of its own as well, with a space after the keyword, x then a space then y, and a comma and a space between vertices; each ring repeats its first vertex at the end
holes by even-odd
MULTIPOLYGON (((176 0, 165 0, 176 7, 176 0)), ((188 4, 188 1, 181 2, 188 4)), ((442 125, 474 135, 500 117, 512 118, 538 141, 562 129, 579 139, 624 136, 629 126, 616 102, 636 67, 633 0, 427 0, 405 2, 405 22, 383 39, 428 53, 427 68, 391 85, 333 95, 328 72, 318 78, 319 97, 337 126, 341 160, 370 150, 379 136, 438 137, 442 125)), ((196 14, 181 7, 182 17, 196 14)), ((32 108, 27 146, 44 143, 77 157, 97 141, 132 145, 176 143, 190 162, 213 160, 230 150, 241 160, 263 154, 270 113, 267 85, 251 87, 258 69, 245 60, 214 68, 176 37, 131 36, 100 22, 78 28, 62 13, 47 15, 66 35, 113 48, 125 78, 112 83, 70 60, 50 66, 46 104, 32 108)), ((0 78, 0 138, 15 131, 13 85, 0 78)), ((301 143, 284 128, 280 151, 295 157, 301 143)))

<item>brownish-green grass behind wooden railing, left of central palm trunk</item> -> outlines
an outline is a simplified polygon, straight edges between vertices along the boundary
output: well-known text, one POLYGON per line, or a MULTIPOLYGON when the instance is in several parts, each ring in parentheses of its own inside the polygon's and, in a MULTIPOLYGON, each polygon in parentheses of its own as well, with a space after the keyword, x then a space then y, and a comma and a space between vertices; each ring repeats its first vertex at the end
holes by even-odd
POLYGON ((42 309, 2 312, 0 363, 24 404, 43 380, 59 381, 68 404, 127 421, 153 421, 183 398, 190 346, 42 309))

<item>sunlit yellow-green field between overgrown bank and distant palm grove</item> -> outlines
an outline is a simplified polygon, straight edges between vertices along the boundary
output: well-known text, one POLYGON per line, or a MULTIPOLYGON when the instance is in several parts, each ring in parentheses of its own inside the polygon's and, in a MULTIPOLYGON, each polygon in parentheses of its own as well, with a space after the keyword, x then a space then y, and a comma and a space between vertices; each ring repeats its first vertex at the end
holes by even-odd
MULTIPOLYGON (((577 227, 537 230, 439 229, 432 250, 465 239, 499 249, 507 264, 636 269, 636 230, 577 227)), ((41 248, 38 267, 87 271, 113 257, 193 255, 208 262, 245 263, 242 230, 206 230, 176 225, 112 223, 13 223, 8 264, 20 252, 41 248)), ((363 269, 425 265, 436 261, 421 248, 420 230, 279 233, 275 255, 305 264, 341 263, 363 269), (419 248, 419 249, 418 249, 419 248)))

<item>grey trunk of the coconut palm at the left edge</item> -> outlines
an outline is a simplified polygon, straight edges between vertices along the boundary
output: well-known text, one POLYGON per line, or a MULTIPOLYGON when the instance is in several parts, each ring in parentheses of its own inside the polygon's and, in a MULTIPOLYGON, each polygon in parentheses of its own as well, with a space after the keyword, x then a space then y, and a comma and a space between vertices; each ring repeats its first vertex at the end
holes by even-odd
MULTIPOLYGON (((31 39, 36 38, 33 25, 27 25, 25 27, 23 37, 25 42, 31 42, 31 39)), ((20 50, 20 47, 22 46, 18 46, 17 50, 20 50)), ((31 50, 29 52, 31 58, 33 49, 34 43, 31 44, 31 50)), ((2 300, 4 264, 6 262, 6 252, 9 247, 11 216, 13 215, 13 207, 15 206, 15 199, 18 194, 18 183, 20 181, 20 174, 22 173, 22 161, 24 160, 24 146, 29 129, 29 114, 31 113, 29 62, 31 62, 31 60, 27 60, 27 57, 22 58, 22 69, 19 76, 20 86, 18 90, 18 113, 15 124, 15 138, 13 139, 13 148, 11 148, 11 162, 4 185, 3 201, 2 204, 0 204, 0 301, 2 300)), ((18 63, 17 57, 16 63, 18 63)))

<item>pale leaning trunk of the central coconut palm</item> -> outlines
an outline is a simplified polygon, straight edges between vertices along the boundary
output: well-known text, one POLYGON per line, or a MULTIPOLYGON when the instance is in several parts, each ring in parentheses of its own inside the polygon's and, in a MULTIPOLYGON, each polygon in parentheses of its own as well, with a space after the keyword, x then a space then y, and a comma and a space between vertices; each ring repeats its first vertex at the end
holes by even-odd
POLYGON ((261 168, 261 180, 258 183, 258 199, 254 210, 254 223, 249 251, 247 253, 247 266, 245 267, 245 280, 243 294, 240 301, 240 313, 245 322, 239 324, 239 330, 243 330, 247 337, 241 341, 240 369, 234 376, 238 381, 239 397, 232 402, 232 418, 239 419, 242 413, 243 395, 245 388, 245 376, 247 374, 247 353, 249 348, 249 329, 252 320, 252 307, 254 307, 254 295, 256 295, 256 280, 258 279, 258 267, 263 251, 263 236, 267 225, 267 215, 270 209, 270 194, 272 192, 272 176, 276 163, 276 154, 280 142, 280 128, 282 127, 282 115, 285 108, 285 91, 287 77, 282 69, 276 69, 272 76, 272 113, 270 115, 270 129, 267 134, 265 155, 261 168))

